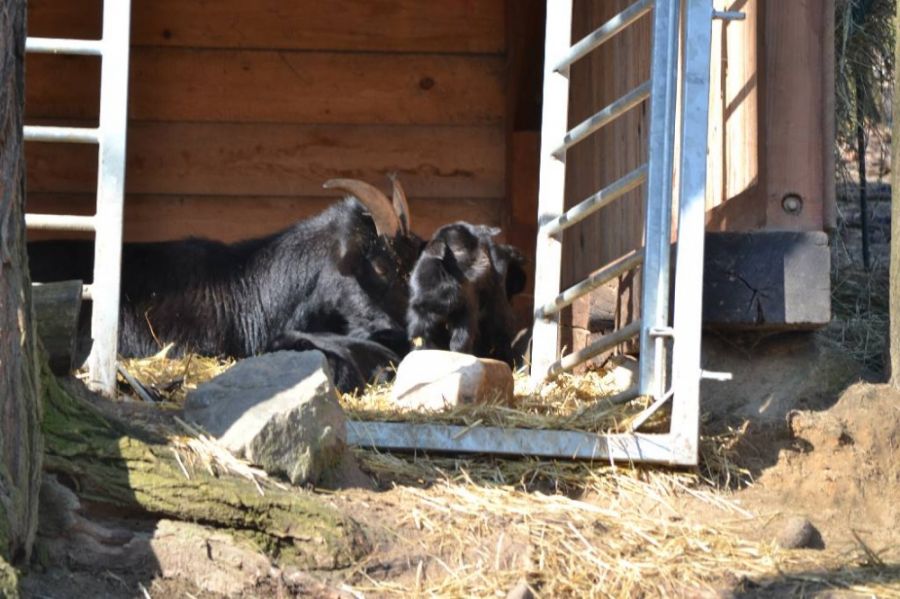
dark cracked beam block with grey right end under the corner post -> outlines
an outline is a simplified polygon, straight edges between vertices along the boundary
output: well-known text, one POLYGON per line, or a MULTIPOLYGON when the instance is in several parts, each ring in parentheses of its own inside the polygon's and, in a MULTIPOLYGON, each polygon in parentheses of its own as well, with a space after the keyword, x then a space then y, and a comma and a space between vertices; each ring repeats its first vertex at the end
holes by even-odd
POLYGON ((831 320, 828 236, 821 232, 707 233, 703 322, 811 329, 831 320))

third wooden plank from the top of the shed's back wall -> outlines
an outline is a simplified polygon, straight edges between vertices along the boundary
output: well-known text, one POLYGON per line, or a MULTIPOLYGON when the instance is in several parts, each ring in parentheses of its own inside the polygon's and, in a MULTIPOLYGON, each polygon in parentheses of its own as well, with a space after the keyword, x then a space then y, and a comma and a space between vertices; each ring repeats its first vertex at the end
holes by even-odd
MULTIPOLYGON (((503 197, 502 126, 396 127, 133 122, 126 191, 320 195, 331 177, 378 183, 397 171, 412 197, 503 197)), ((28 189, 93 192, 96 148, 26 144, 28 189)))

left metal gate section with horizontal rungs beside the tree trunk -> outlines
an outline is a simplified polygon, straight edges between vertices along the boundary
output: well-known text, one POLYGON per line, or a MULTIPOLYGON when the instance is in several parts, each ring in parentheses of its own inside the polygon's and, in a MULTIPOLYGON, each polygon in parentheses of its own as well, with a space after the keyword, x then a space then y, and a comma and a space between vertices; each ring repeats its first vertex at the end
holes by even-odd
POLYGON ((84 294, 94 303, 88 369, 91 387, 106 394, 116 385, 130 13, 130 0, 105 0, 102 39, 29 37, 25 43, 27 52, 100 56, 102 60, 98 127, 25 126, 26 141, 98 145, 96 213, 26 214, 25 223, 29 229, 94 233, 94 280, 85 286, 84 294))

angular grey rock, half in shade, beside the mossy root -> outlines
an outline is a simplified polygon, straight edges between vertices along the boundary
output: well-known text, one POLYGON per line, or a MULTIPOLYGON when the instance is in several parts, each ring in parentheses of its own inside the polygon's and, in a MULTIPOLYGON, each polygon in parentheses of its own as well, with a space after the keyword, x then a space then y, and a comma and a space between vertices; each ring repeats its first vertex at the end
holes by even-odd
POLYGON ((294 484, 318 481, 345 451, 346 416, 318 351, 242 360, 188 394, 185 415, 236 456, 294 484))

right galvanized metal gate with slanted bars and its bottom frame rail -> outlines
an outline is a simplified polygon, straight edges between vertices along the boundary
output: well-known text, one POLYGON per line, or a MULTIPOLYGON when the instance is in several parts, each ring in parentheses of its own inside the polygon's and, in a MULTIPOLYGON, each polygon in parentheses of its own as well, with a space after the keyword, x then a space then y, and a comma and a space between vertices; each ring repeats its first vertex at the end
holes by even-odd
POLYGON ((382 449, 419 449, 541 457, 643 461, 693 465, 699 434, 700 325, 705 228, 706 149, 712 0, 639 0, 584 39, 571 45, 573 0, 548 2, 545 38, 539 232, 535 274, 532 383, 562 372, 634 337, 640 338, 639 384, 613 399, 653 399, 632 431, 598 435, 577 431, 464 427, 438 424, 351 422, 349 441, 382 449), (569 68, 648 12, 653 12, 650 80, 594 116, 567 130, 569 68), (680 24, 680 27, 679 27, 680 24), (679 33, 682 51, 678 75, 679 33), (676 165, 676 92, 681 90, 679 155, 676 165), (649 100, 650 130, 645 164, 564 210, 566 152, 632 108, 649 100), (676 171, 677 168, 677 171, 676 171), (678 194, 673 193, 677 173, 678 194), (644 248, 560 290, 562 232, 603 206, 644 186, 644 248), (673 198, 678 198, 674 319, 669 319, 670 245, 673 198), (642 317, 584 349, 559 355, 559 313, 575 299, 640 266, 642 317), (671 382, 667 384, 667 373, 671 382), (671 430, 637 429, 672 401, 671 430))

